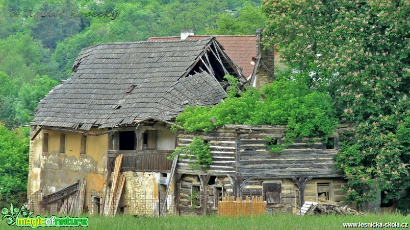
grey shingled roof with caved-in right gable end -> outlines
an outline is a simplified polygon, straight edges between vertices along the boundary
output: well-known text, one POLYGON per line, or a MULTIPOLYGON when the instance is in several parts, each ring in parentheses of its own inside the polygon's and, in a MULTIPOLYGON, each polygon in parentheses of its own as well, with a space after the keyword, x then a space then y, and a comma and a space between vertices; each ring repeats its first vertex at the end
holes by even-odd
POLYGON ((227 96, 226 74, 246 82, 213 37, 91 46, 73 71, 39 103, 33 125, 89 130, 167 121, 187 105, 218 104, 227 96))

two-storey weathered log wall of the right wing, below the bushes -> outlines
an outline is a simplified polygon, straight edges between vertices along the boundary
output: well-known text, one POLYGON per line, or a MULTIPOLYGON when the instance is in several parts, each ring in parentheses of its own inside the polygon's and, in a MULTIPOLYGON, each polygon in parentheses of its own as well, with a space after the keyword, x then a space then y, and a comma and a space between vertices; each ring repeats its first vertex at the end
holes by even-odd
POLYGON ((188 160, 179 160, 176 186, 179 191, 175 193, 176 201, 179 202, 177 213, 204 213, 203 206, 192 206, 190 196, 195 189, 199 190, 201 199, 204 199, 204 191, 207 191, 206 213, 217 210, 218 195, 228 193, 243 198, 263 196, 269 201, 267 207, 275 212, 294 213, 299 207, 300 197, 292 176, 313 176, 305 187, 305 201, 322 200, 342 205, 346 200, 342 187, 347 183, 342 179, 343 173, 334 169, 333 158, 339 151, 338 135, 346 129, 349 129, 348 125, 335 130, 330 136, 331 145, 324 144, 321 138, 316 138, 314 142, 306 138, 295 141, 280 154, 269 152, 267 141, 263 138, 270 137, 282 142, 284 126, 226 125, 223 129, 209 133, 179 131, 178 145, 187 145, 194 137, 207 140, 213 162, 208 169, 192 170, 188 160), (198 175, 211 176, 206 188, 201 186, 198 175))

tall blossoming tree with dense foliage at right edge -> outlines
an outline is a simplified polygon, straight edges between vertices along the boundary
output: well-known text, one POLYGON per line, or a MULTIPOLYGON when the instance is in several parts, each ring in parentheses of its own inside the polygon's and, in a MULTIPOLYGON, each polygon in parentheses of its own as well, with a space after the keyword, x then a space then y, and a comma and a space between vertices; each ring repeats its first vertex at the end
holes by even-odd
POLYGON ((343 122, 356 126, 337 156, 348 199, 382 192, 410 207, 409 17, 407 0, 265 0, 265 42, 291 68, 333 96, 343 122))

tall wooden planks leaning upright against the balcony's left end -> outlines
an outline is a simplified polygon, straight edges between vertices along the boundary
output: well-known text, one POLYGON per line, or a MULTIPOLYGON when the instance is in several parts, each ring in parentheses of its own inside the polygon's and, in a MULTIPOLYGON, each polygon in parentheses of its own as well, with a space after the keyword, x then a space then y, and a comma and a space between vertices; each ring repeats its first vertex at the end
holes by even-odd
MULTIPOLYGON (((123 155, 121 154, 115 159, 114 165, 114 178, 112 183, 107 183, 105 187, 105 196, 103 201, 103 214, 105 216, 113 216, 117 213, 118 205, 121 199, 121 193, 123 192, 123 187, 125 183, 126 176, 124 174, 120 175, 121 164, 123 161, 123 155), (111 186, 109 186, 111 184, 111 186)), ((110 178, 111 165, 107 174, 107 179, 110 178)))

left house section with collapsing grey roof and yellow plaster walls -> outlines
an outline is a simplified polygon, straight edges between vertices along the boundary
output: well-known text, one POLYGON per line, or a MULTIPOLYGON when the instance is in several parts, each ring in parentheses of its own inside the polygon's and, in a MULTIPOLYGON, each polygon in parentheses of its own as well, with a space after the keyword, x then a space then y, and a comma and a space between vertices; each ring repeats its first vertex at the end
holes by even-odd
POLYGON ((172 161, 166 158, 177 144, 172 121, 187 105, 223 100, 226 74, 246 83, 213 37, 91 46, 73 72, 39 103, 31 127, 27 196, 48 211, 61 212, 84 179, 83 209, 101 212, 120 154, 126 182, 118 207, 152 215, 160 196, 161 210, 169 210, 172 161), (147 194, 155 201, 142 200, 147 194))

